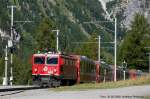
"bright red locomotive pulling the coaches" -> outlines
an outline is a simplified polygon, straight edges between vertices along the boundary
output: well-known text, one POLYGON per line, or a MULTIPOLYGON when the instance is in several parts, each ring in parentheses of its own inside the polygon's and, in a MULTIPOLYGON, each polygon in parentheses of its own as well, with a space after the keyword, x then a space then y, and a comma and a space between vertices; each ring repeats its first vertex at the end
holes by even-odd
POLYGON ((58 53, 34 54, 32 56, 33 84, 60 86, 77 79, 76 58, 58 53))

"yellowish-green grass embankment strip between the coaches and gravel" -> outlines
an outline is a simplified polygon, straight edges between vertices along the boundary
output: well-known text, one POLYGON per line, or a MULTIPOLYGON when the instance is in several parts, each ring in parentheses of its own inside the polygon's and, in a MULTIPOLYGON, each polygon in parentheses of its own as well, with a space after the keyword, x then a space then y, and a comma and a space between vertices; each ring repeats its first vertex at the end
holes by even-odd
POLYGON ((86 83, 77 84, 73 86, 64 86, 59 88, 54 88, 55 91, 67 91, 67 90, 87 90, 87 89, 110 89, 118 87, 127 86, 137 86, 137 85, 150 85, 150 75, 145 77, 139 77, 136 79, 128 79, 117 82, 105 82, 105 83, 86 83))

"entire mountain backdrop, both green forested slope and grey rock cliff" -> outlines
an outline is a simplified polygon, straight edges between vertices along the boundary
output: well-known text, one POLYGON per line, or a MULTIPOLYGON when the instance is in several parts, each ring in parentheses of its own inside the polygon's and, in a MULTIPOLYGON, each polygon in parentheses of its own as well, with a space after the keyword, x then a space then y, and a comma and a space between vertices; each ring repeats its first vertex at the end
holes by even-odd
MULTIPOLYGON (((54 21, 60 34, 70 43, 68 45, 72 45, 71 42, 86 40, 93 32, 100 34, 102 41, 112 41, 114 23, 99 22, 108 21, 106 15, 112 14, 112 11, 117 13, 119 20, 118 38, 123 35, 120 27, 129 29, 135 13, 150 16, 149 0, 1 0, 0 29, 5 32, 1 34, 6 36, 10 35, 10 5, 16 6, 14 28, 23 38, 24 45, 30 46, 34 42, 35 30, 44 17, 54 21)), ((3 45, 0 46, 4 48, 3 45)))

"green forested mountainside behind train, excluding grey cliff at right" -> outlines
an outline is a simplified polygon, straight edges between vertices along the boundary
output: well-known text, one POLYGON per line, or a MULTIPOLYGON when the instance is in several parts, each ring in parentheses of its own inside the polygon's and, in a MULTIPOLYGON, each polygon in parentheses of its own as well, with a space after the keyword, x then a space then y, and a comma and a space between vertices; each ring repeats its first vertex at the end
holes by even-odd
MULTIPOLYGON (((116 3, 111 1, 107 10, 113 8, 116 3)), ((95 31, 103 36, 103 40, 111 40, 113 37, 112 32, 104 30, 104 27, 114 29, 113 24, 86 23, 106 20, 99 0, 0 0, 0 28, 7 35, 10 35, 10 5, 16 6, 14 28, 20 33, 23 42, 27 42, 25 44, 34 42, 35 30, 44 17, 55 22, 68 43, 86 40, 95 31)))

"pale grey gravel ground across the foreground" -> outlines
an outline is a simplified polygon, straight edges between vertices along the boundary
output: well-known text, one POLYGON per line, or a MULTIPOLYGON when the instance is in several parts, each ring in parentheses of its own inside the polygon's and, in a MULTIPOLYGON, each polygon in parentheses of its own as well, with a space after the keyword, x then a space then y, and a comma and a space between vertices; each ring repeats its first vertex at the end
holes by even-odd
POLYGON ((37 89, 0 93, 0 99, 143 99, 144 96, 150 96, 150 85, 86 91, 37 89))

